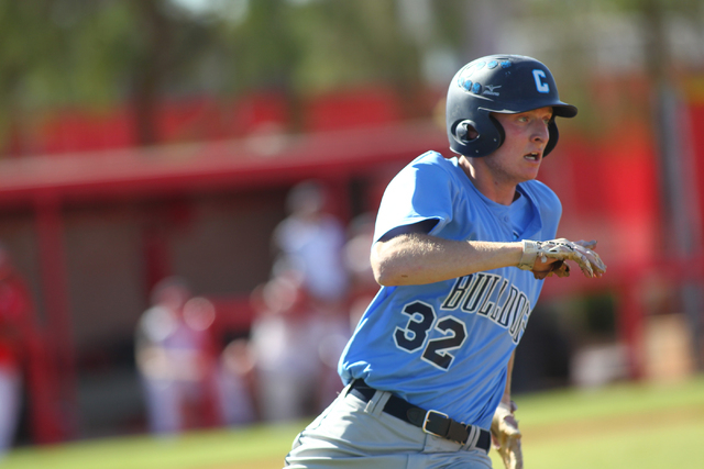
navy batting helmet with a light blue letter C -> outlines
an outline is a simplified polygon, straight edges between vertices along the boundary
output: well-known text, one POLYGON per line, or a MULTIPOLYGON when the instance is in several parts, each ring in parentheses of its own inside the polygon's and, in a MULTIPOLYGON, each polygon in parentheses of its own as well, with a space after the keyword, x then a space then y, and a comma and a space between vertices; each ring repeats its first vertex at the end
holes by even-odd
POLYGON ((450 148, 460 155, 486 156, 504 143, 504 129, 492 112, 517 114, 546 107, 552 107, 552 119, 543 156, 558 143, 556 115, 574 118, 576 108, 560 101, 552 74, 535 58, 477 58, 462 67, 450 82, 446 110, 450 148), (470 127, 479 135, 470 135, 470 127))

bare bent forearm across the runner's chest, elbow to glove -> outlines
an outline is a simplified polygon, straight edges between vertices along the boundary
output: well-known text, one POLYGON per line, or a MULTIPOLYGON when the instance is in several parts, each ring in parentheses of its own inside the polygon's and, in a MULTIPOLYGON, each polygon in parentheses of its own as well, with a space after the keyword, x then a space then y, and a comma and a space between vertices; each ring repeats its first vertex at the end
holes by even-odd
POLYGON ((377 242, 372 250, 376 281, 386 287, 425 284, 518 265, 520 243, 461 242, 424 234, 377 242))

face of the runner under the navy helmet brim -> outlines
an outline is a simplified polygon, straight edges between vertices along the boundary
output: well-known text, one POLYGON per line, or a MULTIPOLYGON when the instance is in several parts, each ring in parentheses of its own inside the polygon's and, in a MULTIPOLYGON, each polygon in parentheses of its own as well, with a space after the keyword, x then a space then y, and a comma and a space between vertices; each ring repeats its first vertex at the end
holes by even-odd
POLYGON ((485 163, 499 183, 517 185, 538 177, 550 134, 548 124, 552 108, 540 108, 520 114, 493 114, 502 124, 505 139, 485 163))

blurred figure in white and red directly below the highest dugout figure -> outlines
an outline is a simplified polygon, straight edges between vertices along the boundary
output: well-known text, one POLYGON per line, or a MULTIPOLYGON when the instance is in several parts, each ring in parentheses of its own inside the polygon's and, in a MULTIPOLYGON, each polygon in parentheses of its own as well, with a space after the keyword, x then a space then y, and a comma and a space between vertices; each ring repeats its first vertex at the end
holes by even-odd
POLYGON ((275 271, 252 294, 252 347, 262 417, 288 421, 319 411, 341 388, 336 368, 349 327, 310 301, 302 272, 275 271))

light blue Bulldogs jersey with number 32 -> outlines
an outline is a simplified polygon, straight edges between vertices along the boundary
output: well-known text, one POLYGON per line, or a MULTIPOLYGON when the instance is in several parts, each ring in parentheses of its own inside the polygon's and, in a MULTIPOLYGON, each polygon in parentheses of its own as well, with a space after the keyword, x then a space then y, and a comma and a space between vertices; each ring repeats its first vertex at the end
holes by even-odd
MULTIPOLYGON (((493 202, 457 158, 429 152, 387 187, 374 239, 424 220, 437 220, 430 234, 448 239, 553 239, 562 212, 558 197, 535 180, 520 183, 518 192, 512 206, 493 202)), ((541 288, 542 280, 517 267, 382 287, 340 358, 340 376, 488 428, 541 288)))

